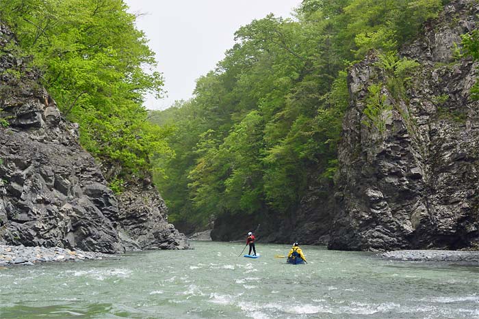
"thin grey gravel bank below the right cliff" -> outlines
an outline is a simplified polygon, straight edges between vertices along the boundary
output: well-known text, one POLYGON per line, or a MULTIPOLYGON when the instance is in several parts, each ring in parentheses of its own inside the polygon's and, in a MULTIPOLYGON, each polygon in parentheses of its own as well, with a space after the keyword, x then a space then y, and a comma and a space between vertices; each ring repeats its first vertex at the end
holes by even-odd
POLYGON ((391 260, 406 260, 413 262, 467 262, 479 266, 479 251, 451 250, 398 250, 378 254, 391 260))

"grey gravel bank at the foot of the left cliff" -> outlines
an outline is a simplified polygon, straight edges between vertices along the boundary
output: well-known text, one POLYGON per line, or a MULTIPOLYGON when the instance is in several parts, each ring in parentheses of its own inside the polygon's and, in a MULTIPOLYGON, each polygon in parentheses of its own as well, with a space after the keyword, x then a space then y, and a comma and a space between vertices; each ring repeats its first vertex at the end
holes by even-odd
POLYGON ((25 247, 0 245, 0 266, 32 266, 40 262, 66 262, 80 260, 99 260, 111 257, 105 253, 90 251, 71 251, 60 247, 25 247))

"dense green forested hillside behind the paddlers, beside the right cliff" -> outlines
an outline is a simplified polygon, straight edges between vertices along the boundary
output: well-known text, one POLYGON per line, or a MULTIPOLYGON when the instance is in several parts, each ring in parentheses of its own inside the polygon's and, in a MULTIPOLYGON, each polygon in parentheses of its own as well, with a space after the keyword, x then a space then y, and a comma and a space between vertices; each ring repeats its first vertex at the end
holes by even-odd
MULTIPOLYGON (((331 191, 346 71, 378 50, 400 94, 415 61, 399 59, 398 48, 447 2, 305 0, 294 19, 269 15, 238 29, 194 98, 151 113, 151 122, 174 130, 176 155, 157 158, 164 174, 155 176, 170 220, 184 231, 224 213, 287 220, 309 189, 331 191)), ((367 111, 374 118, 374 107, 367 111)))

